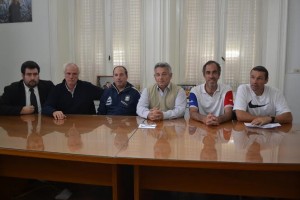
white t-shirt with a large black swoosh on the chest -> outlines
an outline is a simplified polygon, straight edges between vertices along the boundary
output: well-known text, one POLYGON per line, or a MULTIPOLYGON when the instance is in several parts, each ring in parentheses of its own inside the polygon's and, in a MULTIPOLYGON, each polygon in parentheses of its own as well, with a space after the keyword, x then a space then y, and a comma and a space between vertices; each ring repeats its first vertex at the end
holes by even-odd
POLYGON ((276 116, 291 112, 278 89, 265 85, 263 94, 256 96, 250 84, 238 87, 233 109, 243 110, 255 116, 276 116))

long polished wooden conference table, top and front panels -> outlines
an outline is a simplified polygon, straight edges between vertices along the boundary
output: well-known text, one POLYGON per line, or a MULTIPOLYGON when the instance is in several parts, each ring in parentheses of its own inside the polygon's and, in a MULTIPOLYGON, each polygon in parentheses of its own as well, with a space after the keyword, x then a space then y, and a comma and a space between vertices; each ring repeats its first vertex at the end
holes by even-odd
POLYGON ((0 116, 0 176, 148 190, 300 198, 300 125, 208 127, 189 119, 0 116), (151 122, 147 122, 151 123, 151 122))

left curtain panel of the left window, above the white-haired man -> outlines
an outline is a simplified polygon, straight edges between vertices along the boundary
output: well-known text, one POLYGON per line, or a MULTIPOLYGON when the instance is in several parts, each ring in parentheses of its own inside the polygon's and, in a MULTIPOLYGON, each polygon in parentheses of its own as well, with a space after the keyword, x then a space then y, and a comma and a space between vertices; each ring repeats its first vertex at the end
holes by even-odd
POLYGON ((106 69, 104 2, 76 0, 75 4, 75 60, 81 79, 92 83, 106 69))

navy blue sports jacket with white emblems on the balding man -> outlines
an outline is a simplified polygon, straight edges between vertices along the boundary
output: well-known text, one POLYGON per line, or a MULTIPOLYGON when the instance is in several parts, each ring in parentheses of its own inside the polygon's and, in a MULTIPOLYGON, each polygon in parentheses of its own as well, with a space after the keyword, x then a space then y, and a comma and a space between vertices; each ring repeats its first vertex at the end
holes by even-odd
POLYGON ((140 99, 140 93, 133 85, 127 82, 121 92, 115 87, 104 90, 100 98, 98 115, 136 115, 136 106, 140 99))

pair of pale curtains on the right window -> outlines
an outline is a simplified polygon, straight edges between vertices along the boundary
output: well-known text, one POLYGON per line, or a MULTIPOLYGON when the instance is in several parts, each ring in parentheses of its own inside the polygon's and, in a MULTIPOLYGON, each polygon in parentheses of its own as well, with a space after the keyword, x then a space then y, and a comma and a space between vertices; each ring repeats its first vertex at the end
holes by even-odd
POLYGON ((202 66, 216 60, 221 81, 235 90, 249 82, 249 71, 261 61, 259 0, 189 0, 183 2, 181 32, 184 80, 203 82, 202 66))

